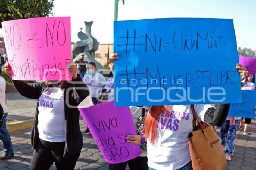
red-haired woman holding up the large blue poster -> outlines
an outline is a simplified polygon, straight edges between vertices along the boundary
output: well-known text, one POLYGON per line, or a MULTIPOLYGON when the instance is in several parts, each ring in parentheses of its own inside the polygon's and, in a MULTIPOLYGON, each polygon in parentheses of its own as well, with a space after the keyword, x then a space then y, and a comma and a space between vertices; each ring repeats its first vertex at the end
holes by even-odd
MULTIPOLYGON (((114 70, 114 60, 118 54, 109 58, 114 70)), ((248 72, 241 65, 236 68, 242 80, 248 72)), ((229 112, 230 104, 222 104, 215 109, 212 105, 194 105, 198 117, 213 126, 221 126, 229 112)), ((188 134, 192 132, 193 114, 191 105, 163 105, 145 107, 145 139, 147 140, 149 170, 192 170, 189 154, 188 134)), ((134 142, 136 144, 136 142, 134 142)))

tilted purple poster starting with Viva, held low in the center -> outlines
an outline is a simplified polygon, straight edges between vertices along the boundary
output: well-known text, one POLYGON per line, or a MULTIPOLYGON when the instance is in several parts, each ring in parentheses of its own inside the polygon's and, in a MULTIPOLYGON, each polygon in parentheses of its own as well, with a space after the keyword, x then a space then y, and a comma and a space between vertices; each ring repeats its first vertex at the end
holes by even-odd
POLYGON ((129 107, 114 107, 114 101, 79 108, 108 163, 121 163, 141 154, 140 146, 130 144, 126 137, 136 134, 129 107))

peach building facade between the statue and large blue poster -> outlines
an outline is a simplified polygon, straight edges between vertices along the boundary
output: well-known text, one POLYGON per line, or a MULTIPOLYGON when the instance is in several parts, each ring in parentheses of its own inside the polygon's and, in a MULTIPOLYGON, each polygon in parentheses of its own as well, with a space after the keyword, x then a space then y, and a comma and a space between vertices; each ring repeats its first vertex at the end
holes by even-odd
POLYGON ((113 44, 99 44, 99 48, 95 51, 95 60, 102 66, 107 65, 108 55, 113 54, 113 44))

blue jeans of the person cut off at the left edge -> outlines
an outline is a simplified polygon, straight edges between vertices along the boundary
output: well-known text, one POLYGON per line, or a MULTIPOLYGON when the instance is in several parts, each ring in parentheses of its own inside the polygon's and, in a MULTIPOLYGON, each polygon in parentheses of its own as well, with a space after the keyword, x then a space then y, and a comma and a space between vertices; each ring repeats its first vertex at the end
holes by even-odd
POLYGON ((14 153, 14 151, 11 143, 10 134, 6 129, 6 117, 7 117, 7 113, 5 113, 5 116, 3 117, 3 120, 2 120, 2 127, 0 127, 0 140, 3 143, 4 152, 11 154, 11 153, 14 153))

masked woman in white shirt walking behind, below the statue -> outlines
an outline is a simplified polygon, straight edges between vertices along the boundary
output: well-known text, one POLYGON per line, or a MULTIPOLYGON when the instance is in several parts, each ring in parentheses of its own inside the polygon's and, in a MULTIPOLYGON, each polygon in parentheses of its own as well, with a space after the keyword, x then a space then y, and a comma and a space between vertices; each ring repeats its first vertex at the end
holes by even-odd
MULTIPOLYGON (((101 95, 102 87, 104 87, 106 84, 103 75, 96 71, 96 64, 94 62, 89 62, 88 73, 85 74, 83 77, 83 82, 89 88, 90 96, 94 105, 98 103, 98 98, 101 95)), ((83 133, 88 135, 90 133, 90 130, 87 128, 83 133)))

